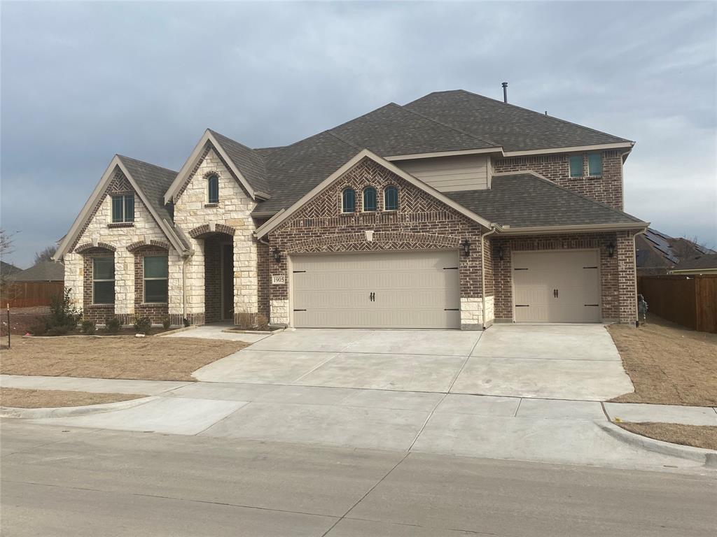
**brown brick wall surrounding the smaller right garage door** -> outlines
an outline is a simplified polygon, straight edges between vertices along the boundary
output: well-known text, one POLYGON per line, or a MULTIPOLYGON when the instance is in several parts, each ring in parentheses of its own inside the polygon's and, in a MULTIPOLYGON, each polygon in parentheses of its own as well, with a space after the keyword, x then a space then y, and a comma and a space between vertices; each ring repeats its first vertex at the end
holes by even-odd
POLYGON ((491 241, 493 253, 495 318, 513 320, 513 275, 511 252, 534 250, 571 250, 599 248, 600 288, 603 321, 631 324, 637 316, 634 237, 627 231, 617 233, 576 233, 498 237, 491 241), (607 245, 614 243, 614 256, 607 245), (499 250, 503 255, 501 260, 499 250))

